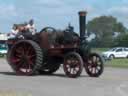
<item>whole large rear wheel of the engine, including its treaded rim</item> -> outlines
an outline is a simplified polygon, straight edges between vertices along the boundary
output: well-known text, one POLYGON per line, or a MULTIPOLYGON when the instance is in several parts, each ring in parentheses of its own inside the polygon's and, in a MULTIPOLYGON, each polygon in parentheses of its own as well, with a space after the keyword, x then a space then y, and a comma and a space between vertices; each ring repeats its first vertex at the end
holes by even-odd
POLYGON ((42 50, 31 40, 17 42, 8 54, 8 62, 18 75, 33 75, 42 65, 42 50))

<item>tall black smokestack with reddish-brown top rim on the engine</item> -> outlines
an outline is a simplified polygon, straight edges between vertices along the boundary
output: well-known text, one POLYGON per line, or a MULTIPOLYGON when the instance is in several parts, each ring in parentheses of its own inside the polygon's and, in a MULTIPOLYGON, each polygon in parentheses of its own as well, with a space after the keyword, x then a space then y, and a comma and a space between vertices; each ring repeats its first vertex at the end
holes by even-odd
POLYGON ((86 11, 79 12, 79 27, 80 27, 80 39, 85 39, 85 30, 86 30, 86 11))

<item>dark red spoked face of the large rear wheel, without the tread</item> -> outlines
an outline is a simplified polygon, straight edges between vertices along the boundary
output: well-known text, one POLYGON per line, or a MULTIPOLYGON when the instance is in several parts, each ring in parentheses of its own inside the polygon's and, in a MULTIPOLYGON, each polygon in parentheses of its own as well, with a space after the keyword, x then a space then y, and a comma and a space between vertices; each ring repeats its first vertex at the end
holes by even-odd
POLYGON ((28 42, 18 43, 12 49, 10 61, 16 73, 20 75, 32 74, 36 60, 36 51, 28 42))

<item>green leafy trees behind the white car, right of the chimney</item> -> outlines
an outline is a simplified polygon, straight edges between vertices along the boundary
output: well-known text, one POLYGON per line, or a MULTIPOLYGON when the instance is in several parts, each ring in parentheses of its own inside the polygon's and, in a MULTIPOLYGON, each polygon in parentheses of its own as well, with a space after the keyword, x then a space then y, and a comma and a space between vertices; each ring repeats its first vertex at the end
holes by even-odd
POLYGON ((87 32, 95 34, 92 47, 128 47, 128 29, 116 17, 100 16, 88 21, 87 32))

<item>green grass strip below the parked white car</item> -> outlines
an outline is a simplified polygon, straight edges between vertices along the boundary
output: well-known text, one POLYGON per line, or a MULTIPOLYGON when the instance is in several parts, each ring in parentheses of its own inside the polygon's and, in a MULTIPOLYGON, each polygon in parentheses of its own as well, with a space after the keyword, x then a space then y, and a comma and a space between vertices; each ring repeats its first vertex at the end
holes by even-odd
POLYGON ((128 68, 128 59, 113 59, 105 62, 106 67, 128 68))

